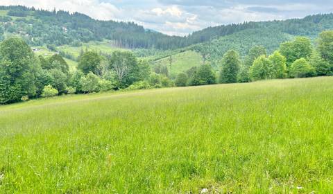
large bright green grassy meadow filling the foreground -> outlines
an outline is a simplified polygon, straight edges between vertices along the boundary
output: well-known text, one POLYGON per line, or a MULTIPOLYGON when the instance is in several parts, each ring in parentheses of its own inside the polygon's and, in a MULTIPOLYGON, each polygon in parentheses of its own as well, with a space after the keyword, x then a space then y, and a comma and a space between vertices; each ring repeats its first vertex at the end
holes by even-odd
POLYGON ((0 193, 333 193, 333 77, 0 107, 0 193))

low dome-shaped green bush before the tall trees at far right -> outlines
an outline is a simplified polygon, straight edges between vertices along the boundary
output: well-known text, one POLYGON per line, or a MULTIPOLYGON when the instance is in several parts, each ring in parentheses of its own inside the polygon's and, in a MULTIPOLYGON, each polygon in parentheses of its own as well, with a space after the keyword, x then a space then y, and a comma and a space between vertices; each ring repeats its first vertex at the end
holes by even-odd
POLYGON ((291 64, 289 71, 290 78, 308 78, 313 76, 316 76, 316 69, 305 58, 296 60, 291 64))

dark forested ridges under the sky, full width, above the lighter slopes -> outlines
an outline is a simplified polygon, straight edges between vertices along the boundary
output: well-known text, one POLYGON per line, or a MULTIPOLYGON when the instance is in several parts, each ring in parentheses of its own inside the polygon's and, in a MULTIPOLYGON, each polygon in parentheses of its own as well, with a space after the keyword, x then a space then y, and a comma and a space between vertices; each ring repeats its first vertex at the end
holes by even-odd
MULTIPOLYGON (((78 12, 46 11, 26 8, 24 6, 0 6, 0 38, 19 34, 32 46, 54 44, 56 46, 80 42, 110 39, 114 44, 126 48, 175 49, 193 44, 211 41, 221 37, 244 36, 247 32, 254 39, 254 31, 268 31, 277 42, 288 35, 306 35, 315 37, 323 30, 333 28, 333 14, 312 15, 304 19, 285 21, 245 22, 205 28, 188 35, 177 37, 164 35, 133 22, 100 21, 78 12), (271 30, 273 29, 273 30, 271 30)), ((243 38, 243 37, 241 37, 243 38)), ((228 40, 229 41, 229 40, 228 40)), ((263 42, 266 44, 267 42, 263 42)))

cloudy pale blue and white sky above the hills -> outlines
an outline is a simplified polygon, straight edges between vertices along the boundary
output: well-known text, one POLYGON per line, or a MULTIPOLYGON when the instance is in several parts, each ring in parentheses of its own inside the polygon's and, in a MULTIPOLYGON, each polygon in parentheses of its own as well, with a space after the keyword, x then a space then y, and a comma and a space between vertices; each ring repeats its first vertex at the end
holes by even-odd
POLYGON ((56 8, 95 19, 135 21, 169 35, 187 35, 220 24, 333 12, 333 0, 0 0, 0 5, 56 8))

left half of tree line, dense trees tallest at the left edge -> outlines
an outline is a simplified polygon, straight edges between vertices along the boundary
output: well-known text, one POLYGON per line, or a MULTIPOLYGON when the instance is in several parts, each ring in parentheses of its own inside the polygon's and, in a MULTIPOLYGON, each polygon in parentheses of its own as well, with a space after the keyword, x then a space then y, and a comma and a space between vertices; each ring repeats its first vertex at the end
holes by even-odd
POLYGON ((100 55, 86 51, 77 71, 69 71, 61 55, 36 56, 18 37, 0 44, 0 104, 64 94, 87 94, 119 89, 171 87, 167 76, 151 73, 151 66, 132 52, 100 55))

